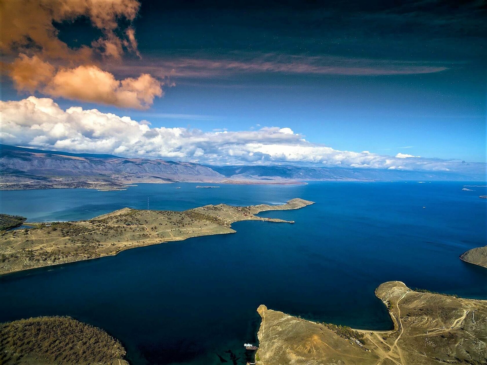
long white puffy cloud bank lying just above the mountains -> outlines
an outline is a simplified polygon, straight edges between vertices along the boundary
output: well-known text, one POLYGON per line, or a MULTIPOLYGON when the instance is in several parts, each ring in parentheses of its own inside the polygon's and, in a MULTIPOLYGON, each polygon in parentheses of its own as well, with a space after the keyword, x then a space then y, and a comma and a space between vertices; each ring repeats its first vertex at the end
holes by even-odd
POLYGON ((0 101, 2 143, 72 152, 161 157, 211 164, 299 163, 422 171, 485 169, 485 164, 456 160, 403 158, 339 151, 307 141, 288 127, 255 131, 202 132, 187 128, 151 128, 147 121, 71 107, 62 110, 50 98, 30 96, 0 101), (285 133, 283 133, 285 131, 285 133))

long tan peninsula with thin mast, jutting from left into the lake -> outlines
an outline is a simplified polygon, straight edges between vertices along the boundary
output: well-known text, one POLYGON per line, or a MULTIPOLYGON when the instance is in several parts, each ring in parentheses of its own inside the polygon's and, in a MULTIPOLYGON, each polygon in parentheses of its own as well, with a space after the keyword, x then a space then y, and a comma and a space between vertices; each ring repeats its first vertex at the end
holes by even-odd
POLYGON ((238 221, 294 223, 255 214, 299 209, 313 203, 296 198, 282 205, 219 204, 187 211, 123 208, 85 221, 29 222, 34 228, 1 232, 0 274, 115 255, 122 250, 190 237, 233 233, 231 224, 238 221))

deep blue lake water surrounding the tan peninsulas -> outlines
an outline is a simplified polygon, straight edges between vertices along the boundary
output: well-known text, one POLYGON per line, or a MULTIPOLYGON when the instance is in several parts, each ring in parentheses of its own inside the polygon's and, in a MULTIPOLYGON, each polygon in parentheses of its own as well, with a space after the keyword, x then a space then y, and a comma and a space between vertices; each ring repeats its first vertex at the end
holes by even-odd
POLYGON ((487 270, 458 258, 487 244, 487 199, 478 197, 486 188, 466 192, 462 182, 196 185, 0 192, 0 212, 28 221, 87 219, 125 206, 145 209, 148 196, 151 209, 170 210, 294 197, 316 204, 261 213, 294 224, 238 222, 234 234, 4 275, 0 322, 70 315, 118 338, 134 365, 217 365, 218 355, 232 364, 225 350, 245 364, 250 354, 242 345, 256 341, 260 304, 387 329, 391 320, 374 295, 385 281, 487 299, 487 270))

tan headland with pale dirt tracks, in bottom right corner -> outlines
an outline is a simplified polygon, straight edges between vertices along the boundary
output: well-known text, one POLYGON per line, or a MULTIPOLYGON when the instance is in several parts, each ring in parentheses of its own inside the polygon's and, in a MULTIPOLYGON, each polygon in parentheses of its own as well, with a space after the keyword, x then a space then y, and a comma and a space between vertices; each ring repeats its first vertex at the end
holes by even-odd
POLYGON ((399 281, 381 284, 375 295, 388 308, 393 330, 311 322, 261 305, 256 363, 487 364, 487 301, 412 290, 399 281))

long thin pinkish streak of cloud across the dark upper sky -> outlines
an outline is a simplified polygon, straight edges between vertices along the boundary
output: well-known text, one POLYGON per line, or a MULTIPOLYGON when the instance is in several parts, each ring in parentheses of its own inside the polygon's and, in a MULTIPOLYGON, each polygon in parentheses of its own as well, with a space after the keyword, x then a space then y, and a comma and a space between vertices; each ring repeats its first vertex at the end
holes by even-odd
MULTIPOLYGON (((448 68, 435 63, 393 59, 304 56, 278 53, 230 52, 207 58, 200 54, 187 57, 152 59, 135 66, 141 72, 174 77, 218 77, 241 73, 281 73, 310 75, 381 76, 430 74, 448 68)), ((114 70, 131 70, 114 65, 114 70)), ((133 69, 132 69, 133 71, 133 69)))

